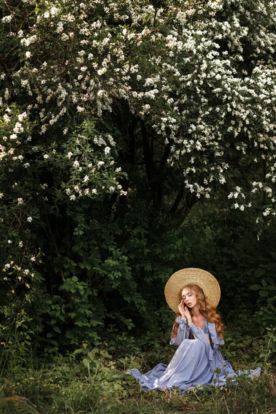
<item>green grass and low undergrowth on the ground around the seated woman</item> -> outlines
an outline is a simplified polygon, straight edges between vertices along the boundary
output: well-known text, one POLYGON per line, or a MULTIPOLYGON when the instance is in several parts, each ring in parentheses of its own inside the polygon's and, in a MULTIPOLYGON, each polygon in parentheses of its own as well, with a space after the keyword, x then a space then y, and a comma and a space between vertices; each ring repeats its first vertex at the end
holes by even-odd
POLYGON ((239 336, 237 342, 234 333, 228 335, 222 352, 235 370, 262 366, 262 375, 253 380, 241 375, 237 386, 211 386, 181 396, 177 389, 144 393, 126 374, 129 368, 146 372, 159 362, 168 363, 175 348, 156 340, 150 351, 130 349, 133 354, 124 351, 121 358, 103 348, 83 348, 75 354, 58 355, 50 364, 34 357, 24 362, 22 355, 19 359, 14 354, 8 359, 8 352, 3 352, 0 414, 276 413, 275 365, 268 362, 262 339, 239 336))

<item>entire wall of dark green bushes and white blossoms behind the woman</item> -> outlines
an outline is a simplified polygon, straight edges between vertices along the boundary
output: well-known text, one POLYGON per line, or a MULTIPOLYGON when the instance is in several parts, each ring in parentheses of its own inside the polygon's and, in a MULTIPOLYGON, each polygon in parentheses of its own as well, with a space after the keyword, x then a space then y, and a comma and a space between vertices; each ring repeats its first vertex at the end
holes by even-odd
POLYGON ((64 353, 155 331, 164 284, 187 266, 219 279, 226 322, 255 313, 273 338, 273 4, 1 12, 6 348, 64 353))

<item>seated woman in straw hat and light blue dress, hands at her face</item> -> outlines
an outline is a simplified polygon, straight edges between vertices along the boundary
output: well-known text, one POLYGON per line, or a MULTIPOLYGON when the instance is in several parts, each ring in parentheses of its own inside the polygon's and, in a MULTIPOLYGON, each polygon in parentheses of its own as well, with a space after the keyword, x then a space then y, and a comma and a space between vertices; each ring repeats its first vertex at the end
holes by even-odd
MULTIPOLYGON (((158 364, 144 375, 136 368, 129 372, 144 391, 225 385, 226 377, 237 374, 218 350, 224 339, 221 318, 216 313, 220 299, 217 279, 198 268, 178 270, 166 284, 165 297, 177 314, 170 337, 177 351, 168 366, 158 364)), ((249 374, 259 375, 259 371, 257 368, 249 374)))

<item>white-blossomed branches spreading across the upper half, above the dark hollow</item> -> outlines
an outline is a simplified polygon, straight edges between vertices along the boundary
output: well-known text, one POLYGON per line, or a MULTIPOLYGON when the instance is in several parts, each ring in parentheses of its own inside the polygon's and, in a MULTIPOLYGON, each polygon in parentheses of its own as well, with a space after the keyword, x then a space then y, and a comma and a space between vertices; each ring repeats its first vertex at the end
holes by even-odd
MULTIPOLYGON (((3 12, 10 66, 0 75, 8 177, 0 198, 17 209, 19 228, 34 226, 53 200, 127 195, 116 163, 123 134, 108 124, 115 107, 152 128, 188 193, 208 199, 227 187, 233 207, 244 210, 262 192, 263 215, 275 215, 272 2, 26 0, 18 8, 7 1, 3 12), (235 170, 251 161, 256 173, 242 188, 235 170)), ((7 246, 21 248, 25 241, 15 239, 8 235, 7 246)))

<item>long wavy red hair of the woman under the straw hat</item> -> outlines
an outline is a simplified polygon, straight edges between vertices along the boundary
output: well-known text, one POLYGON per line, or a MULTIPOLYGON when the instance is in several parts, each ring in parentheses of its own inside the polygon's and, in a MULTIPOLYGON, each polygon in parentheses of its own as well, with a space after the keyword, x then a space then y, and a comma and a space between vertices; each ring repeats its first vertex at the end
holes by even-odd
MULTIPOLYGON (((197 284, 188 284, 188 285, 182 286, 182 288, 179 290, 179 303, 181 302, 181 299, 182 299, 181 292, 184 288, 188 288, 191 292, 197 295, 197 305, 199 307, 199 313, 202 316, 206 317, 205 301, 204 301, 204 294, 202 292, 202 289, 199 286, 197 286, 197 284)), ((217 313, 216 308, 214 308, 214 306, 212 306, 209 303, 207 296, 205 296, 205 299, 206 299, 206 305, 207 305, 208 322, 214 322, 217 334, 219 335, 219 337, 223 337, 224 325, 221 323, 221 317, 217 313)), ((190 309, 190 308, 188 309, 189 309, 190 314, 193 316, 193 309, 190 309)), ((180 313, 177 313, 177 316, 180 316, 180 313)), ((177 322, 174 322, 173 327, 172 327, 172 337, 177 336, 178 326, 179 324, 177 324, 177 322)))

